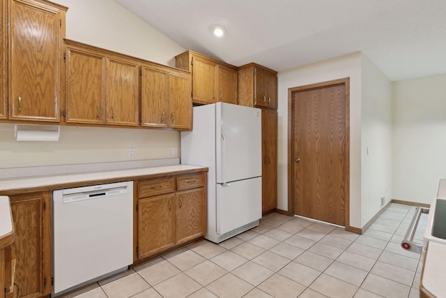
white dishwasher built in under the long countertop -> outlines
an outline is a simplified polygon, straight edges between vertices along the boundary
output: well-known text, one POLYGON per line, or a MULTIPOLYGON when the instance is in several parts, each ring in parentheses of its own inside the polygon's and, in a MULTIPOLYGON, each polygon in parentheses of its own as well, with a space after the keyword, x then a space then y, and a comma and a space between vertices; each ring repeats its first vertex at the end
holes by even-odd
POLYGON ((133 262, 133 182, 53 191, 53 295, 133 262))

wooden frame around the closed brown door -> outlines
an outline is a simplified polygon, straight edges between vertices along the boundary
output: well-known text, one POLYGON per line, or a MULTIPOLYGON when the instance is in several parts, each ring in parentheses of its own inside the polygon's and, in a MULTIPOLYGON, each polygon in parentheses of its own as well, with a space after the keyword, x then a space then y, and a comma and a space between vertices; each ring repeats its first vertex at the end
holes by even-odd
POLYGON ((299 91, 311 91, 314 89, 321 89, 325 87, 333 87, 344 85, 346 93, 345 105, 345 120, 346 120, 346 188, 345 188, 345 229, 352 230, 350 226, 350 78, 344 77, 339 80, 331 80, 320 82, 316 84, 308 84, 300 87, 293 87, 288 89, 288 212, 289 215, 294 215, 294 171, 293 171, 293 94, 299 91))

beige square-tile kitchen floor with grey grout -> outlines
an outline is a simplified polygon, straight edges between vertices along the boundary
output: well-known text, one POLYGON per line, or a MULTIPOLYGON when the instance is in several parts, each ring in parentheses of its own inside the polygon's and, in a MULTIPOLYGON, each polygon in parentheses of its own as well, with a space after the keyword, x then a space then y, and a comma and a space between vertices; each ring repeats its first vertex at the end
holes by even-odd
MULTIPOLYGON (((69 296, 415 298, 422 260, 399 245, 414 212, 390 204, 362 235, 269 214, 218 245, 199 241, 69 296)), ((425 224, 423 214, 415 239, 425 224)))

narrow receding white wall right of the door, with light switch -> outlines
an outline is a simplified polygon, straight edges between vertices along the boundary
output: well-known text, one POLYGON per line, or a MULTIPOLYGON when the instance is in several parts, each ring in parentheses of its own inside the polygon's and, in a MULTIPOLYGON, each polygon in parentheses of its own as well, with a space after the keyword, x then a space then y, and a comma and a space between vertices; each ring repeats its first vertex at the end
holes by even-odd
POLYGON ((392 82, 362 54, 361 226, 392 193, 392 82))

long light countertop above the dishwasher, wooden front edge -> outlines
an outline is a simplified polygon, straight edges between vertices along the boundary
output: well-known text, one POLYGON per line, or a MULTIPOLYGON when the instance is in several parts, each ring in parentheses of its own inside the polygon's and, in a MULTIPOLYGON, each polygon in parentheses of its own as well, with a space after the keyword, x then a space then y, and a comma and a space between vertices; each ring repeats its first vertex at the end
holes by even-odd
POLYGON ((106 179, 121 179, 122 181, 131 180, 133 177, 150 176, 154 174, 164 174, 169 172, 179 172, 187 170, 198 170, 203 167, 195 165, 167 165, 162 167, 142 167, 136 169, 127 170, 113 170, 105 172, 88 172, 77 174, 58 174, 50 176, 38 176, 38 177, 23 177, 13 179, 1 179, 0 191, 20 190, 26 188, 39 188, 45 186, 72 184, 80 182, 101 181, 106 179))

